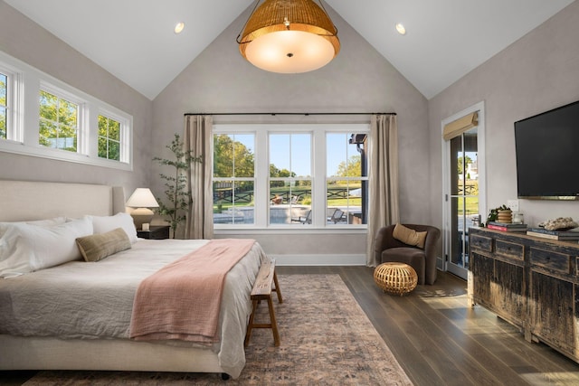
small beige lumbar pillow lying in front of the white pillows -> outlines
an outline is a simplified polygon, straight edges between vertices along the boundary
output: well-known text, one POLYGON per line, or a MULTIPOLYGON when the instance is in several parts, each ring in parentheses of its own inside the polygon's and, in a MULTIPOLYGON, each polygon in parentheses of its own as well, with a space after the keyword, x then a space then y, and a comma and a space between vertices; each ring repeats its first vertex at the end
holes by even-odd
POLYGON ((117 228, 106 233, 92 234, 76 240, 85 261, 99 261, 130 248, 127 232, 117 228))

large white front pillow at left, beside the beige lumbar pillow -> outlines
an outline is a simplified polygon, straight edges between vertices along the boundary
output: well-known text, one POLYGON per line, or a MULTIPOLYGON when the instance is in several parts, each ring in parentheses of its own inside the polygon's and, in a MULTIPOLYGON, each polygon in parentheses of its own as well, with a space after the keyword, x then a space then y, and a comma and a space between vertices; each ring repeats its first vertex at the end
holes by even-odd
POLYGON ((0 224, 0 277, 11 277, 81 259, 76 239, 92 234, 88 217, 50 228, 0 224))

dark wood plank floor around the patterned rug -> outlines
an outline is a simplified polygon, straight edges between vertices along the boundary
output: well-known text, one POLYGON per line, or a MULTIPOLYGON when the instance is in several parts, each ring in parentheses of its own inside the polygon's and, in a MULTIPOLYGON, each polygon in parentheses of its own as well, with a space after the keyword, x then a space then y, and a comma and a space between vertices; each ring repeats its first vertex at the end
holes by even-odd
MULTIPOLYGON (((384 294, 366 267, 279 267, 279 275, 339 274, 415 385, 579 385, 579 364, 486 309, 470 308, 466 282, 439 272, 434 286, 384 294)), ((332 299, 339 301, 339 299, 332 299)), ((19 385, 33 372, 0 372, 19 385)))

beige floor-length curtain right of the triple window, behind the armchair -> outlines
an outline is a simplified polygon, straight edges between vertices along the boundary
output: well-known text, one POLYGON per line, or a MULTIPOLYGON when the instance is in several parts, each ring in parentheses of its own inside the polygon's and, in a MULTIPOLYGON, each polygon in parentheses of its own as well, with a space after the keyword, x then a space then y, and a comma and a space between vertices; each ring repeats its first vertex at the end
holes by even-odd
POLYGON ((368 146, 368 234, 366 265, 376 267, 376 232, 399 221, 398 213, 398 128, 395 115, 373 115, 368 146))

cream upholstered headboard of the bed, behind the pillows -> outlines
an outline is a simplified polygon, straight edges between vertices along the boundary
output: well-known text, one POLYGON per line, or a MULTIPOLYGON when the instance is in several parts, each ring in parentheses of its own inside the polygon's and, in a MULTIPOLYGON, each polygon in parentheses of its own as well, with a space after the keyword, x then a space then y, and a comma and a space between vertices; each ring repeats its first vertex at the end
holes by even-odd
POLYGON ((125 212, 125 193, 120 186, 0 180, 0 221, 118 212, 125 212))

